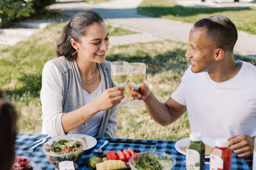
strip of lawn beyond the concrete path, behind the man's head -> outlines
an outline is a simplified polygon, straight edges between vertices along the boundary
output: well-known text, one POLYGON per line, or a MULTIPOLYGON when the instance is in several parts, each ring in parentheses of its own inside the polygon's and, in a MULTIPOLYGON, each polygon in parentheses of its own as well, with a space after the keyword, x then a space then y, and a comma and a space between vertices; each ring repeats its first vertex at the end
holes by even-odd
POLYGON ((175 0, 143 0, 138 13, 188 23, 195 23, 210 15, 225 15, 237 30, 256 34, 256 8, 191 8, 180 6, 175 0))

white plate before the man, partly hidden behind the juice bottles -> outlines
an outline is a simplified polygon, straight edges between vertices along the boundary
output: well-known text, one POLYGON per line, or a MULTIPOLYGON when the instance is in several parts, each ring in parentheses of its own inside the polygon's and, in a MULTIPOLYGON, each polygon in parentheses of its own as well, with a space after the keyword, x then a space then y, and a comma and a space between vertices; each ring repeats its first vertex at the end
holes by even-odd
MULTIPOLYGON (((202 137, 202 141, 204 142, 204 144, 207 144, 210 147, 215 147, 215 139, 202 137)), ((189 137, 177 141, 175 143, 175 149, 181 154, 186 155, 186 152, 181 147, 187 146, 188 142, 189 142, 189 137)), ((210 156, 206 155, 205 158, 210 158, 210 156)))

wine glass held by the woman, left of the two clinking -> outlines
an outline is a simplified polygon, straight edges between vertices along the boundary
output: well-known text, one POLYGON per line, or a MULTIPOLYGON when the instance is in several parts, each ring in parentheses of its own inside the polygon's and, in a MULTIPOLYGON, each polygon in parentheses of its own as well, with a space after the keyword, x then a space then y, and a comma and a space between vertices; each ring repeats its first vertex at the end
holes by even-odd
MULTIPOLYGON (((128 82, 129 63, 126 61, 114 61, 110 64, 111 79, 118 87, 124 87, 128 82)), ((127 100, 121 100, 121 106, 128 104, 127 100)))

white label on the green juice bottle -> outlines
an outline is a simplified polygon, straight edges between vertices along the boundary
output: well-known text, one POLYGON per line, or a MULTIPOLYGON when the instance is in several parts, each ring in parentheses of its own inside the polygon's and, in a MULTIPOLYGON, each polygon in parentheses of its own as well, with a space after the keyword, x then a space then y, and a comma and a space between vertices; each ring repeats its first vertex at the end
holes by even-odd
POLYGON ((186 149, 186 170, 200 170, 200 153, 194 149, 186 149))

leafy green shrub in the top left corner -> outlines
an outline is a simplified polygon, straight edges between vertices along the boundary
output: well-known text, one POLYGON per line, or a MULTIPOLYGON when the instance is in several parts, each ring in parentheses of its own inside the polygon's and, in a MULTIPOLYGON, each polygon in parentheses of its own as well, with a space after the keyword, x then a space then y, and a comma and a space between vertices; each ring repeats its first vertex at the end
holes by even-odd
POLYGON ((16 18, 29 17, 35 10, 31 0, 0 0, 0 27, 8 27, 16 18))

